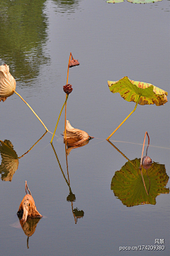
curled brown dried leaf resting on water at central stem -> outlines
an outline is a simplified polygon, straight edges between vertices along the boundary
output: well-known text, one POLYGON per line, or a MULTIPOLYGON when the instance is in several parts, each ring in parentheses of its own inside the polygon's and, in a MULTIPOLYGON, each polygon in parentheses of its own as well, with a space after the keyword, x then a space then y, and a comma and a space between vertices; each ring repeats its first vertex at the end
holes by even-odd
MULTIPOLYGON (((76 129, 72 127, 69 120, 67 120, 67 123, 66 123, 66 137, 67 137, 67 155, 69 155, 72 149, 76 149, 80 146, 84 146, 89 143, 90 139, 94 138, 94 137, 90 137, 87 132, 84 132, 81 129, 76 129)), ((64 143, 65 143, 65 134, 64 134, 64 143)))

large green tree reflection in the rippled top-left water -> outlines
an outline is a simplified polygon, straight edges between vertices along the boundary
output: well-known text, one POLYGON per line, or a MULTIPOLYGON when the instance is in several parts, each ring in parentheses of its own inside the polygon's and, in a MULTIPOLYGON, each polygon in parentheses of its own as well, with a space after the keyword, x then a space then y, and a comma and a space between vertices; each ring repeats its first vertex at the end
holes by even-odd
POLYGON ((45 0, 0 1, 1 62, 10 65, 16 80, 30 82, 38 76, 40 64, 47 63, 42 51, 47 41, 44 4, 45 0))

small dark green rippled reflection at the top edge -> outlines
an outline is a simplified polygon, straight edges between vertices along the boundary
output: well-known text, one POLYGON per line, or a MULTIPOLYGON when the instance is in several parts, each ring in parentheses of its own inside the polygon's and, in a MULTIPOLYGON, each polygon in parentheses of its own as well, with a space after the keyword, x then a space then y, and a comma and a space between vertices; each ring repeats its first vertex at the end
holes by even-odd
POLYGON ((59 13, 67 13, 71 14, 74 13, 77 9, 79 9, 79 0, 52 0, 56 6, 57 9, 56 12, 59 13))

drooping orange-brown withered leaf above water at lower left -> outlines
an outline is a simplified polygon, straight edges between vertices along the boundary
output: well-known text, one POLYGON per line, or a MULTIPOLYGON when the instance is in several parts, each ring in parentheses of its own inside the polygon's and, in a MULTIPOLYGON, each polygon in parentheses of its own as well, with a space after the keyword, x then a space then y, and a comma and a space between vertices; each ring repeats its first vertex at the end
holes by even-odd
POLYGON ((35 206, 33 196, 30 196, 28 194, 24 196, 23 200, 21 201, 17 215, 21 215, 22 213, 23 217, 21 218, 21 220, 24 222, 26 222, 27 217, 42 218, 42 215, 38 212, 35 206))

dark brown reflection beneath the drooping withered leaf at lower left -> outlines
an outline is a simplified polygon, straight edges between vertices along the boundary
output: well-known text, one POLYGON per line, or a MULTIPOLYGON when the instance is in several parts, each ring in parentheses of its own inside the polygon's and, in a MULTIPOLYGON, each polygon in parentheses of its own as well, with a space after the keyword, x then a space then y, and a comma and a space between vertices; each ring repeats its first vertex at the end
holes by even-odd
POLYGON ((35 228, 38 225, 40 218, 28 218, 28 220, 26 220, 26 222, 23 222, 22 220, 20 220, 20 224, 21 227, 23 228, 23 232, 30 237, 31 235, 33 235, 33 233, 35 233, 35 228))

